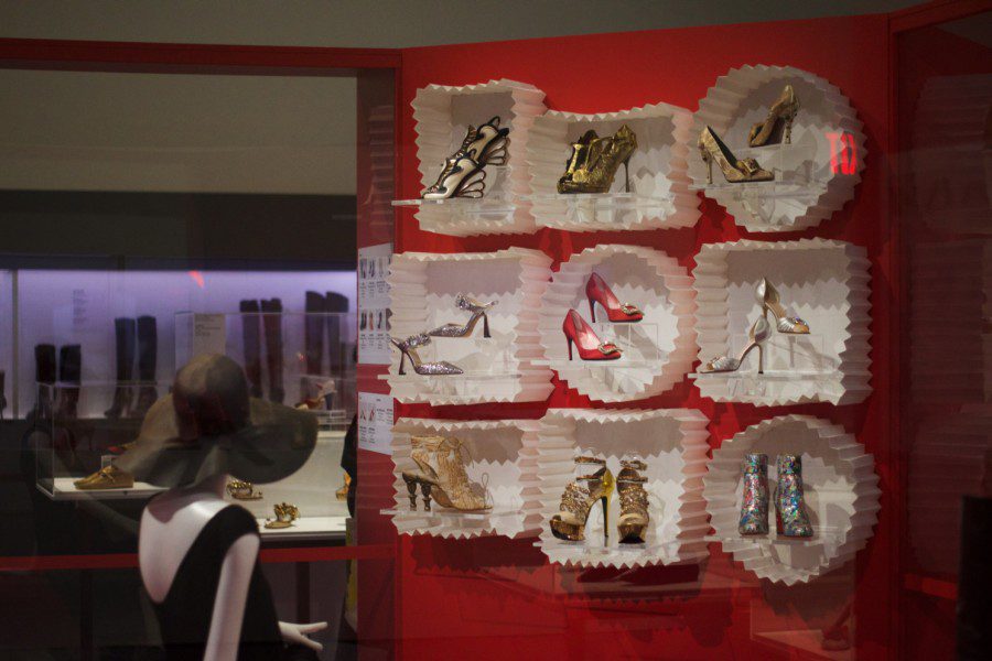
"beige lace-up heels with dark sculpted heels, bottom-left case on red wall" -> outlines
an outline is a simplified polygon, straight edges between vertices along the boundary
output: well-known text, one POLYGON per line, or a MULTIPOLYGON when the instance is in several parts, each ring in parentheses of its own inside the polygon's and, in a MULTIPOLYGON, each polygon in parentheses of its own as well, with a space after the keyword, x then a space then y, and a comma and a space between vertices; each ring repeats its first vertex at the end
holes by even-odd
POLYGON ((441 507, 461 511, 493 509, 465 473, 462 462, 462 442, 446 436, 413 436, 411 458, 417 464, 412 470, 403 470, 403 481, 410 494, 410 509, 417 509, 417 487, 423 496, 424 511, 431 511, 431 498, 441 507))

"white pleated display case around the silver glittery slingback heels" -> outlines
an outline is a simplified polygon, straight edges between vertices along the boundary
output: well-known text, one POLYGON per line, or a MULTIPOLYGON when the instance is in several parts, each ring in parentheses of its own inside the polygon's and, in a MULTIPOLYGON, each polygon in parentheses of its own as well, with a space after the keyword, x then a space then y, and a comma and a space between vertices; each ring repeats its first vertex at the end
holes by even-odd
POLYGON ((400 402, 434 405, 542 401, 551 394, 550 368, 539 365, 538 306, 551 277, 551 258, 538 250, 403 252, 389 273, 390 336, 399 342, 446 324, 465 325, 471 313, 460 295, 495 303, 465 337, 431 337, 417 349, 423 364, 449 362, 461 375, 420 375, 392 347, 391 394, 400 402))

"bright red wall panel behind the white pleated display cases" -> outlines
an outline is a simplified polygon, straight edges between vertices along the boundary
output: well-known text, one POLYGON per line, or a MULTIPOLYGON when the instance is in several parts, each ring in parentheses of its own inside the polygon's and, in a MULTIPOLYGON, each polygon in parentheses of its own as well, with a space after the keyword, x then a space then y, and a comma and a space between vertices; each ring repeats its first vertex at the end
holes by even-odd
MULTIPOLYGON (((567 11, 563 6, 562 11, 567 11)), ((738 238, 788 240, 823 237, 867 249, 872 260, 872 370, 874 394, 847 407, 809 404, 755 408, 701 399, 687 379, 665 395, 623 407, 701 410, 711 419, 711 444, 750 424, 784 413, 806 413, 842 424, 873 453, 881 475, 882 512, 875 537, 855 563, 808 585, 758 582, 711 544, 699 570, 651 567, 635 572, 573 572, 547 563, 532 540, 444 541, 401 538, 396 565, 396 637, 403 658, 769 658, 804 657, 775 643, 768 631, 820 629, 845 613, 859 654, 894 653, 897 520, 889 437, 889 310, 894 274, 888 253, 886 159, 887 23, 884 17, 694 28, 628 34, 500 42, 403 52, 398 195, 420 192, 410 101, 431 83, 463 85, 492 78, 529 83, 547 93, 549 108, 607 111, 665 101, 697 109, 716 77, 744 64, 791 65, 829 79, 865 122, 866 169, 855 198, 833 218, 802 232, 752 235, 722 207, 701 199, 693 228, 570 234, 543 229, 513 237, 454 238, 422 232, 409 210, 397 212, 398 251, 481 251, 538 248, 558 262, 596 243, 649 246, 691 269, 702 243, 738 238)), ((557 388, 548 402, 486 407, 397 405, 398 415, 539 418, 548 407, 590 407, 557 388)), ((619 408, 623 408, 619 407, 619 408)), ((365 514, 370 514, 366 512, 365 514)), ((364 527, 391 524, 381 518, 364 527)), ((384 614, 385 615, 385 614, 384 614)), ((842 618, 843 619, 843 618, 842 618)))

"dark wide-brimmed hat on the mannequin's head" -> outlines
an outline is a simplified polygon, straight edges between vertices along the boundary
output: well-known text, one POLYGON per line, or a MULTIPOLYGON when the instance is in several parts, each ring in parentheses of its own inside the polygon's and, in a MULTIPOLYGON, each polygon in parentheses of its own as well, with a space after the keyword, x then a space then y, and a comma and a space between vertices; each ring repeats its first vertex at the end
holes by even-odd
POLYGON ((138 440, 114 463, 158 487, 222 473, 267 484, 303 466, 316 434, 314 415, 248 397, 237 362, 204 355, 176 373, 172 393, 152 404, 138 440))

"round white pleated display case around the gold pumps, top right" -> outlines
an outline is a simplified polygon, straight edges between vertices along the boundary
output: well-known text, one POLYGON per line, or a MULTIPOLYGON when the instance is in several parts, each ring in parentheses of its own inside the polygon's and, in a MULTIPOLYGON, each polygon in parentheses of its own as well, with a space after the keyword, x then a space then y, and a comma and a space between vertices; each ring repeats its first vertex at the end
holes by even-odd
POLYGON ((863 122, 841 90, 791 66, 742 66, 718 78, 693 116, 689 176, 693 189, 723 205, 751 231, 795 231, 819 225, 854 198, 865 161, 863 122), (791 85, 799 110, 791 140, 750 147, 751 128, 791 85), (710 127, 735 160, 754 159, 773 181, 730 183, 713 163, 712 183, 697 141, 710 127))

